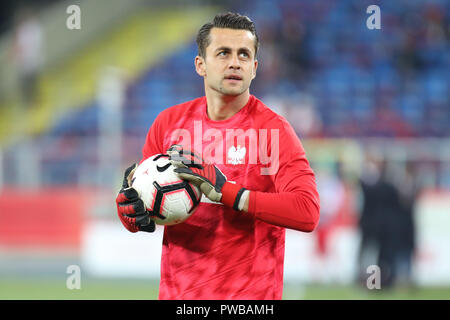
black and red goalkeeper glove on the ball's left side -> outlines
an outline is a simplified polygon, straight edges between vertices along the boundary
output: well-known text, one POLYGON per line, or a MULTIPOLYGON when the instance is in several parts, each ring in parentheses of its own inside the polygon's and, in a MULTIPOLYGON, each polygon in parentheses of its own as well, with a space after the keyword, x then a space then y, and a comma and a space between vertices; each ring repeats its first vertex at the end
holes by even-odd
POLYGON ((155 222, 150 219, 149 212, 145 209, 144 201, 133 187, 130 187, 131 178, 137 168, 133 164, 125 170, 122 188, 116 197, 117 213, 122 224, 131 232, 155 231, 155 222))

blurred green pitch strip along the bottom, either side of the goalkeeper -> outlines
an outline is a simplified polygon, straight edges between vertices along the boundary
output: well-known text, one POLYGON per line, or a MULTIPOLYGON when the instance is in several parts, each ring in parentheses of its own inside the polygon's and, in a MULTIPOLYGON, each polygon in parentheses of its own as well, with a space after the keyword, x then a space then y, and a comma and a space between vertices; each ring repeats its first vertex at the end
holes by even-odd
MULTIPOLYGON (((33 300, 148 300, 158 298, 157 280, 82 279, 81 288, 69 290, 64 277, 0 279, 0 299, 33 300)), ((397 288, 367 290, 356 286, 285 285, 286 300, 450 299, 450 288, 397 288)))

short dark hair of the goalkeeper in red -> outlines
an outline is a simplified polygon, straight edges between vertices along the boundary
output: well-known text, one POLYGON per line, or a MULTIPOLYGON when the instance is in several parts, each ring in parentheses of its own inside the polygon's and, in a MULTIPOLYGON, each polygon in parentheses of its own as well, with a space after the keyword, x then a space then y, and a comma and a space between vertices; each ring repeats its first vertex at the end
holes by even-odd
POLYGON ((248 30, 255 36, 255 58, 258 53, 259 39, 256 34, 255 24, 249 17, 240 15, 239 13, 226 12, 219 13, 214 17, 212 22, 204 24, 197 33, 198 55, 206 56, 206 47, 211 43, 209 34, 212 28, 228 28, 236 30, 248 30))

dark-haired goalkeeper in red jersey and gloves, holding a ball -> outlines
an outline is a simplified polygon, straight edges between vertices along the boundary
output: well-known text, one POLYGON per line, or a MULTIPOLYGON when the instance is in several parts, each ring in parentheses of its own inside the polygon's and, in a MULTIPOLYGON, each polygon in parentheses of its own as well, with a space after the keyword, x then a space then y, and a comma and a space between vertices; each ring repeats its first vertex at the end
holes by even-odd
MULTIPOLYGON (((164 227, 159 298, 281 299, 285 228, 311 232, 319 221, 314 172, 291 125, 250 94, 259 47, 253 22, 217 15, 197 45, 205 96, 161 112, 143 147, 142 161, 168 153, 180 178, 204 193, 192 217, 164 227), (199 134, 200 141, 187 138, 199 134)), ((152 232, 129 187, 133 169, 116 199, 118 215, 129 231, 152 232)))

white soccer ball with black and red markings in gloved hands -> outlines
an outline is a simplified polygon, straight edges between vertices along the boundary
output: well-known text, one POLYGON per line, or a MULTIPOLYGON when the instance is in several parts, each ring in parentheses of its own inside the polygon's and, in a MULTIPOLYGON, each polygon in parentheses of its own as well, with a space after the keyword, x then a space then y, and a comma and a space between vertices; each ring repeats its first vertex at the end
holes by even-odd
POLYGON ((137 167, 131 180, 156 224, 184 222, 200 202, 200 189, 178 178, 173 169, 168 155, 156 154, 137 167))

